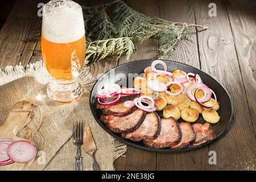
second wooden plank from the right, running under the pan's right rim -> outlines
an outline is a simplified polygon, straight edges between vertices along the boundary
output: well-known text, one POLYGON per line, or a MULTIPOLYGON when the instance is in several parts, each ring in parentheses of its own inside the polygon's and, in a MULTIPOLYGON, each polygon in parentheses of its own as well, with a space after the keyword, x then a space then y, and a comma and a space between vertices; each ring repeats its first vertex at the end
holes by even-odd
POLYGON ((217 5, 216 17, 208 15, 209 3, 212 1, 194 2, 196 22, 209 27, 204 34, 198 34, 202 70, 216 77, 225 86, 234 106, 234 121, 228 133, 210 145, 211 150, 217 153, 217 164, 213 165, 213 169, 255 169, 255 134, 225 1, 214 1, 217 5))

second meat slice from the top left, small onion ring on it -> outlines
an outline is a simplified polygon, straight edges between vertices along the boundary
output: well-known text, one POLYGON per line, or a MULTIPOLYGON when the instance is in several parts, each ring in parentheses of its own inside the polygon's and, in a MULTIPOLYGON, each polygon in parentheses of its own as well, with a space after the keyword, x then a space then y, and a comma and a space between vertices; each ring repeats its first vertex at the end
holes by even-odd
POLYGON ((131 104, 127 102, 132 102, 133 104, 133 101, 119 102, 118 104, 102 109, 102 113, 105 115, 115 115, 118 117, 129 115, 133 113, 137 107, 135 105, 131 106, 131 104))

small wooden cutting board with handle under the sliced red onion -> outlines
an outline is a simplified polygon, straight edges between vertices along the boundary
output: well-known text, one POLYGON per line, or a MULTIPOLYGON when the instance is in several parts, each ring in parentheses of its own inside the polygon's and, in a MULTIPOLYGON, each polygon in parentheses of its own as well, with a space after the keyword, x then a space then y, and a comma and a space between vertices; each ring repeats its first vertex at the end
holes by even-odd
MULTIPOLYGON (((0 139, 8 138, 14 141, 25 140, 16 137, 34 117, 34 104, 29 101, 17 102, 10 110, 9 115, 0 126, 0 139)), ((26 164, 13 163, 8 166, 0 166, 0 171, 25 171, 28 170, 33 161, 26 164)))

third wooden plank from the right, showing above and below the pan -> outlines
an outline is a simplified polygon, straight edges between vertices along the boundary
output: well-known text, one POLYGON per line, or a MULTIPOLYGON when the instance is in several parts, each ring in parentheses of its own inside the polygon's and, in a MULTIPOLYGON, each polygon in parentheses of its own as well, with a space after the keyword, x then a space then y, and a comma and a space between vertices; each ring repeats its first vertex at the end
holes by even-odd
MULTIPOLYGON (((193 1, 160 1, 160 18, 172 22, 195 23, 193 1)), ((181 42, 174 52, 172 60, 200 68, 197 49, 196 28, 190 28, 192 42, 181 42)), ((204 34, 201 32, 200 34, 204 34)), ((181 154, 157 154, 158 170, 210 170, 208 163, 209 147, 181 154)))

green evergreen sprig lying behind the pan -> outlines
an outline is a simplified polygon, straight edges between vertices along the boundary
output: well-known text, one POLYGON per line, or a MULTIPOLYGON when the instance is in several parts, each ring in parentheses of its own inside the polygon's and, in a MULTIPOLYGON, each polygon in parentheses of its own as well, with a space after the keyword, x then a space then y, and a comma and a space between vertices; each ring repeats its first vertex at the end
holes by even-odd
POLYGON ((149 38, 159 42, 159 55, 156 58, 169 59, 182 40, 191 41, 189 27, 208 28, 151 18, 133 10, 121 0, 82 8, 87 34, 86 60, 90 62, 111 55, 129 59, 137 45, 149 38), (108 12, 109 8, 111 12, 108 12))

